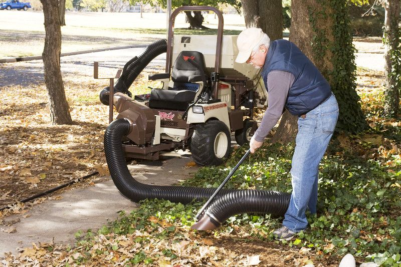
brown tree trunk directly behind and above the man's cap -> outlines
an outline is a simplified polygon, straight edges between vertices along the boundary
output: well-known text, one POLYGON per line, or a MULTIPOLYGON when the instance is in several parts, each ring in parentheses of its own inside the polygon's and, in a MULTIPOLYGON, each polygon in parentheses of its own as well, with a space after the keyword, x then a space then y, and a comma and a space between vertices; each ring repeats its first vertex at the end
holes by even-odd
POLYGON ((241 0, 247 28, 261 28, 270 40, 283 38, 281 0, 241 0))

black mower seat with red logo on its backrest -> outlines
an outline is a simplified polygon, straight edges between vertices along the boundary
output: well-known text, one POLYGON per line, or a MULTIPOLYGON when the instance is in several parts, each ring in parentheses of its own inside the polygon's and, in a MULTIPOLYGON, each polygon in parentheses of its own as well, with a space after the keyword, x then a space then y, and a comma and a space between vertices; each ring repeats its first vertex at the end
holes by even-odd
MULTIPOLYGON (((161 74, 163 75, 163 74, 161 74)), ((181 51, 171 71, 173 87, 168 90, 154 88, 150 91, 149 107, 157 109, 186 110, 199 90, 205 75, 204 55, 195 51, 181 51)), ((154 75, 155 77, 160 74, 154 75)), ((149 79, 152 77, 149 75, 149 79)))

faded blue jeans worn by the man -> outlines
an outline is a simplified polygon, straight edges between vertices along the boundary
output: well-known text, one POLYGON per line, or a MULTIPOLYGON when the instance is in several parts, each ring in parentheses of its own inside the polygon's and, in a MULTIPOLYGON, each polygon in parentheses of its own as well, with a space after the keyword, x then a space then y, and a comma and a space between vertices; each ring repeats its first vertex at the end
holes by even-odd
POLYGON ((308 226, 305 211, 316 213, 319 163, 338 118, 338 104, 334 94, 322 104, 298 118, 298 134, 292 157, 292 194, 283 225, 299 232, 308 226))

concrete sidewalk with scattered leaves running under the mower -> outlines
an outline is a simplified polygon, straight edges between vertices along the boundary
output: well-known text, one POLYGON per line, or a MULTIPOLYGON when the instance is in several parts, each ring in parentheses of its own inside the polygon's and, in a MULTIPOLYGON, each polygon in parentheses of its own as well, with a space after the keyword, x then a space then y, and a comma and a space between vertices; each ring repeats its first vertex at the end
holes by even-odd
MULTIPOLYGON (((192 177, 198 169, 185 166, 191 161, 189 152, 169 152, 161 158, 143 160, 128 168, 135 180, 153 185, 177 184, 192 177)), ((27 213, 6 217, 5 223, 10 225, 0 225, 0 258, 5 257, 4 253, 18 253, 20 249, 32 247, 31 242, 50 243, 54 239, 55 243, 73 246, 75 232, 88 229, 96 232, 116 219, 117 211, 125 210, 129 214, 138 207, 117 190, 110 176, 104 178, 93 186, 66 190, 61 194, 62 199, 47 200, 27 213)))

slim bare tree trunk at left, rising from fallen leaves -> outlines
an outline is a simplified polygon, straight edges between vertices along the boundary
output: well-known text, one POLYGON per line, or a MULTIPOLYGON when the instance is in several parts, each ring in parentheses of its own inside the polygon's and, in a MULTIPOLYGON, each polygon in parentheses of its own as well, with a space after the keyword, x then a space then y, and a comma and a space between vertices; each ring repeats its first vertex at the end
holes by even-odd
POLYGON ((43 63, 52 124, 72 124, 60 70, 61 26, 57 0, 41 0, 45 16, 43 63))

